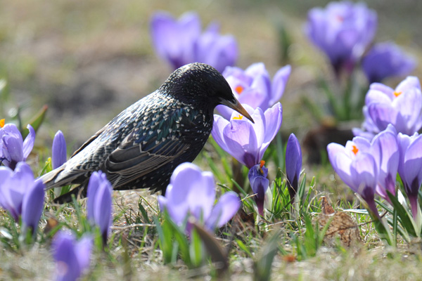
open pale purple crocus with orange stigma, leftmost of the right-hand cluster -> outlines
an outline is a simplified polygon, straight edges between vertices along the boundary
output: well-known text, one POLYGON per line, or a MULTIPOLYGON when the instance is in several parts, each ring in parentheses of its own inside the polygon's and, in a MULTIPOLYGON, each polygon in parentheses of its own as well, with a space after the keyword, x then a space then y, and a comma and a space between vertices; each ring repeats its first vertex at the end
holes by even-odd
POLYGON ((368 141, 360 137, 347 141, 345 146, 330 143, 327 145, 328 159, 338 176, 366 201, 369 211, 379 218, 374 200, 378 166, 367 145, 368 141))

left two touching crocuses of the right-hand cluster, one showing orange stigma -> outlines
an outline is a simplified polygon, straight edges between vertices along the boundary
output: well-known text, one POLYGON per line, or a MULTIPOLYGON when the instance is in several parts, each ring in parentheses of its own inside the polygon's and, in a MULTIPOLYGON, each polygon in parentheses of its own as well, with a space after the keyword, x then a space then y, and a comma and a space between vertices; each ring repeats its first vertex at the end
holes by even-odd
POLYGON ((388 201, 387 191, 395 195, 399 150, 394 127, 388 126, 371 142, 366 138, 354 137, 345 146, 330 143, 327 150, 334 171, 366 201, 373 216, 379 218, 375 193, 388 201))

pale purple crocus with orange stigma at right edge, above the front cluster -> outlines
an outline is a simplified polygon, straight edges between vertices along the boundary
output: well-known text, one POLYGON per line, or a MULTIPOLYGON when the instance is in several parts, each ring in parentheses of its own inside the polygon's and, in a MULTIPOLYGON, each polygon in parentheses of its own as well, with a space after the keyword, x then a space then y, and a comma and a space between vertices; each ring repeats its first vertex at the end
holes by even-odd
POLYGON ((416 77, 407 77, 396 89, 380 83, 371 84, 366 93, 362 129, 353 129, 355 136, 373 138, 392 124, 397 133, 412 135, 422 127, 421 84, 416 77))

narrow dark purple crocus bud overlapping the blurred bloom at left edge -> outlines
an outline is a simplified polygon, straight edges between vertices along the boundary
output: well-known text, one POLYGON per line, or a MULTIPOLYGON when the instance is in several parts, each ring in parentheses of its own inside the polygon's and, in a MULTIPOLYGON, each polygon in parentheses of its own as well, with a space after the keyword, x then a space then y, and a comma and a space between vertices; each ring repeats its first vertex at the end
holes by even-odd
POLYGON ((34 234, 44 209, 44 188, 44 183, 37 180, 23 197, 22 221, 26 227, 32 228, 34 234))

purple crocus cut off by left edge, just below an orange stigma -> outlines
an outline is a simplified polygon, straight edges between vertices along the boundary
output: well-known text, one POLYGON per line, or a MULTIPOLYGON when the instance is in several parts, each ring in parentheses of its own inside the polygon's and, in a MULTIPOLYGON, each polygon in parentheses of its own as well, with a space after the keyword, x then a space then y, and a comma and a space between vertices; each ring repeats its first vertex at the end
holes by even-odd
POLYGON ((35 141, 35 131, 30 124, 27 129, 30 133, 23 141, 22 134, 15 124, 6 124, 0 128, 0 164, 3 163, 14 170, 18 162, 27 159, 35 141))

